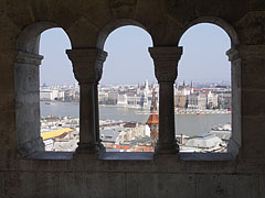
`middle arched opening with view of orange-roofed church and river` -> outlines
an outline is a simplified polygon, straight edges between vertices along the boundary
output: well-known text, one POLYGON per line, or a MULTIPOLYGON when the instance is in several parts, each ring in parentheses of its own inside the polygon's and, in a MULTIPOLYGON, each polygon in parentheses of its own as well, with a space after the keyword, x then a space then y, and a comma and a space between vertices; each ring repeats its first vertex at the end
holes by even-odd
POLYGON ((158 85, 149 46, 151 36, 131 25, 113 31, 104 45, 108 58, 98 90, 99 129, 109 152, 153 152, 158 85))

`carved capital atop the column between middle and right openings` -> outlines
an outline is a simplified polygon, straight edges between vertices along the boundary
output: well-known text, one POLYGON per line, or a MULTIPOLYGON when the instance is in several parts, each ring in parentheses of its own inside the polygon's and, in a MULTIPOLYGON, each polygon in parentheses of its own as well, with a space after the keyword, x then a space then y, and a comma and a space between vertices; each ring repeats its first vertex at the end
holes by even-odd
POLYGON ((182 47, 149 47, 158 82, 174 82, 182 47))

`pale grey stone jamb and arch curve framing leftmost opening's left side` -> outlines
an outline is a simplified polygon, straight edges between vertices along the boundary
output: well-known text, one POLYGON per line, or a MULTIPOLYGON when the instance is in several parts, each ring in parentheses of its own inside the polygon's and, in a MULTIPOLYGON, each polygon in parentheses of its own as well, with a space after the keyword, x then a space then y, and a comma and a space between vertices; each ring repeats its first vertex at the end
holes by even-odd
POLYGON ((17 40, 14 62, 15 136, 22 156, 44 151, 40 135, 40 74, 43 56, 39 55, 40 35, 60 28, 53 22, 38 22, 26 26, 17 40))

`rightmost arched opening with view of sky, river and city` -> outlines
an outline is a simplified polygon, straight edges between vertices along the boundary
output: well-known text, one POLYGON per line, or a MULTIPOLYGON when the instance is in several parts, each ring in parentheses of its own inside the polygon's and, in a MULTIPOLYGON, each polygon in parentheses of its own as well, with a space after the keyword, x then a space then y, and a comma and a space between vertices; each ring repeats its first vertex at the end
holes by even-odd
MULTIPOLYGON (((174 90, 180 152, 227 152, 232 136, 231 36, 200 23, 181 37, 183 55, 174 90)), ((236 41, 237 42, 237 41, 236 41)))

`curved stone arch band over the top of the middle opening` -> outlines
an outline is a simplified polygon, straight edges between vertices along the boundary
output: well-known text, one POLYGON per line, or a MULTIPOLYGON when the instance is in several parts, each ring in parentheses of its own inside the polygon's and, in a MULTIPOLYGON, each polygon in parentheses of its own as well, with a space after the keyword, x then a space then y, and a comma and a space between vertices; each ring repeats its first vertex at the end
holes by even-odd
POLYGON ((121 26, 126 26, 126 25, 135 25, 135 26, 139 26, 139 28, 144 29, 146 32, 149 33, 149 35, 152 38, 152 43, 153 43, 152 35, 150 34, 150 32, 141 23, 139 23, 139 22, 137 22, 135 20, 131 20, 131 19, 121 19, 121 20, 112 21, 110 23, 108 23, 106 26, 104 26, 100 30, 100 32, 98 34, 98 37, 97 37, 97 43, 96 43, 97 48, 103 50, 108 35, 114 30, 116 30, 118 28, 121 28, 121 26))

